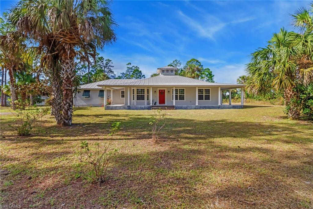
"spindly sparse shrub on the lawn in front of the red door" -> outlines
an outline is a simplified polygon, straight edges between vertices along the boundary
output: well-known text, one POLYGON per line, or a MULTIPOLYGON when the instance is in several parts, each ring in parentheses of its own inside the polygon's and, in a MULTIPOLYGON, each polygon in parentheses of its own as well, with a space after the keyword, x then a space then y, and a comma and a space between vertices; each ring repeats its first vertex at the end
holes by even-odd
POLYGON ((154 115, 150 117, 149 124, 152 126, 152 140, 157 142, 159 140, 157 134, 165 126, 166 111, 162 112, 161 109, 154 111, 154 115))

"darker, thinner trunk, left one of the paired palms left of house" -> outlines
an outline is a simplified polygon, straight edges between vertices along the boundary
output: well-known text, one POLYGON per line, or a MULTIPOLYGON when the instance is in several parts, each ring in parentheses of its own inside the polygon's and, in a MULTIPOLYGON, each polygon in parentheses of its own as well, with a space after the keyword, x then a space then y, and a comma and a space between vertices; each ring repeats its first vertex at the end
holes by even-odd
POLYGON ((52 92, 51 92, 51 115, 54 115, 57 124, 62 123, 62 105, 61 105, 61 81, 59 78, 59 70, 57 67, 52 72, 52 92))

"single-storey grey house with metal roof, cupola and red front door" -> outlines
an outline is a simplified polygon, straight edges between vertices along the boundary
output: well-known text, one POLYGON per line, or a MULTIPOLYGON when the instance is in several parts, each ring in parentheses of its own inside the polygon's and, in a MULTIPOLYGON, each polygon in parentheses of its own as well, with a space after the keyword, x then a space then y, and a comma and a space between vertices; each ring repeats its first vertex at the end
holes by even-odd
POLYGON ((158 76, 146 79, 108 79, 78 87, 74 106, 105 106, 105 110, 239 109, 243 108, 242 84, 210 83, 175 75, 171 66, 157 68, 158 76), (241 88, 241 105, 222 104, 222 91, 241 88), (110 100, 112 104, 106 105, 110 100))

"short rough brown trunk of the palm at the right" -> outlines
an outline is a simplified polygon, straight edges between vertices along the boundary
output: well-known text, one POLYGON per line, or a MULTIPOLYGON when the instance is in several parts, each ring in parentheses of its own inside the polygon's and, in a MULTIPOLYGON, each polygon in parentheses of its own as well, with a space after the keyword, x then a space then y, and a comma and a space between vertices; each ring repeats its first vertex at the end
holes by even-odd
POLYGON ((295 102, 292 101, 293 98, 297 96, 297 93, 293 91, 292 88, 287 88, 284 90, 285 105, 288 110, 288 118, 298 119, 300 117, 300 108, 295 102))

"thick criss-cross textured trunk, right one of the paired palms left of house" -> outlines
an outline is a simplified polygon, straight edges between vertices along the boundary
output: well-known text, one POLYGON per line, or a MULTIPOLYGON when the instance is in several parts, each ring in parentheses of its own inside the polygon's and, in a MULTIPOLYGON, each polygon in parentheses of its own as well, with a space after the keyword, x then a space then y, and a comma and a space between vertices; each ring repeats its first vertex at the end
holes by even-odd
POLYGON ((75 50, 70 44, 64 45, 64 52, 62 53, 62 125, 72 125, 72 114, 73 114, 73 80, 75 78, 75 50))

